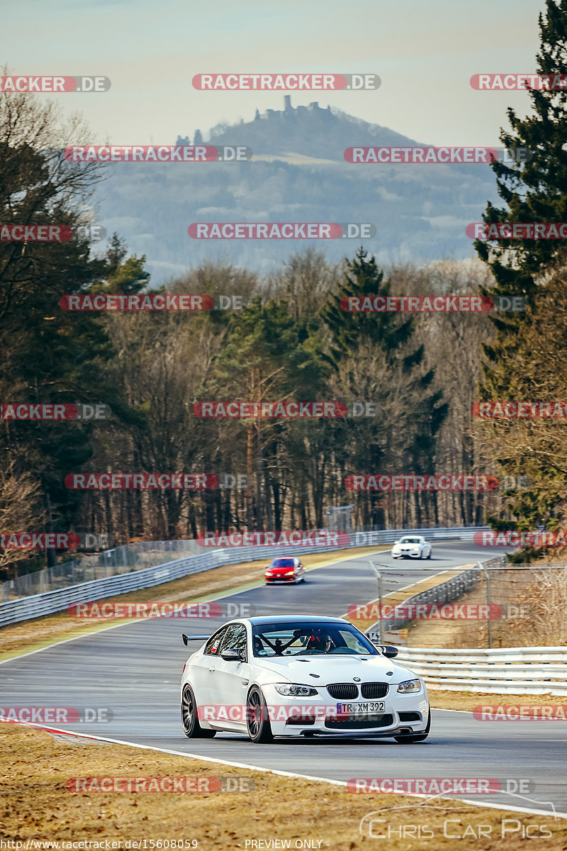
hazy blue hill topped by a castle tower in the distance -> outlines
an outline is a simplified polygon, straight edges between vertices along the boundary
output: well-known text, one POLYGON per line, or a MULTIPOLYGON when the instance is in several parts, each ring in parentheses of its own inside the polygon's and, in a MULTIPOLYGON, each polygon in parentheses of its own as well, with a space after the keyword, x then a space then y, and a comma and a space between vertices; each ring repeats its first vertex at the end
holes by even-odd
MULTIPOLYGON (((181 131, 178 144, 195 140, 181 131)), ((443 140, 411 140, 316 103, 294 109, 288 101, 285 109, 257 112, 250 122, 219 124, 205 141, 247 145, 252 161, 114 163, 99 187, 102 223, 125 237, 133 252, 147 255, 153 283, 216 256, 267 271, 308 243, 197 241, 187 234, 196 221, 372 222, 377 236, 366 245, 383 262, 459 259, 473 253, 465 226, 481 220, 487 199, 496 200, 485 165, 346 163, 349 146, 443 140)), ((317 247, 338 260, 359 243, 320 240, 317 247)))

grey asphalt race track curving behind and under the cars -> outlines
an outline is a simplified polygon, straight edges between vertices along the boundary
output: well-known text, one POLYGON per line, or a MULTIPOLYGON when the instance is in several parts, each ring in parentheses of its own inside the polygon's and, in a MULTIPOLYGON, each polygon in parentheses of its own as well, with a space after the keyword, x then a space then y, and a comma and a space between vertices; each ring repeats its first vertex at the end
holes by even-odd
MULTIPOLYGON (((439 543, 434 545, 431 560, 421 566, 440 572, 502 552, 500 547, 480 551, 472 543, 439 543)), ((251 603, 254 614, 340 616, 349 604, 377 597, 377 581, 366 558, 352 557, 309 571, 303 585, 261 586, 224 597, 224 602, 251 603)), ((384 579, 385 591, 423 578, 419 563, 394 562, 389 552, 373 559, 400 570, 399 575, 384 579)), ((159 591, 156 588, 157 598, 159 591)), ((524 797, 511 793, 461 797, 544 810, 552 818, 552 804, 558 812, 567 813, 567 785, 559 780, 567 765, 567 724, 560 721, 480 722, 473 720, 472 713, 436 710, 432 733, 417 745, 368 739, 276 740, 274 745, 253 745, 239 734, 186 739, 179 721, 179 680, 188 655, 181 632, 207 635, 219 624, 220 620, 137 620, 8 660, 0 665, 0 704, 109 707, 114 716, 111 722, 54 726, 333 780, 530 779, 536 784, 535 791, 524 797)), ((507 702, 521 703, 521 697, 511 695, 507 702)))

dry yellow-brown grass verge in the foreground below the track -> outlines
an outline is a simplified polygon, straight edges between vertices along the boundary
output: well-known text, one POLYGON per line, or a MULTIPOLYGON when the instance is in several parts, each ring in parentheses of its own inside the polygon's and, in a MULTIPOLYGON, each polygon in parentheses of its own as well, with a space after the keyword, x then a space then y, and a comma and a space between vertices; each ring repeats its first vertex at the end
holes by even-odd
MULTIPOLYGON (((123 781, 122 788, 127 788, 123 781)), ((71 849, 71 842, 91 842, 82 846, 91 849, 121 842, 114 848, 564 851, 566 828, 567 821, 554 820, 553 814, 510 813, 439 797, 424 801, 353 794, 325 782, 0 723, 0 839, 21 842, 3 848, 47 848, 39 843, 59 842, 52 847, 63 851, 71 849), (72 791, 77 788, 77 780, 69 783, 72 778, 79 779, 82 790, 95 785, 87 776, 208 778, 201 783, 209 784, 220 778, 236 788, 250 790, 252 783, 253 788, 208 793, 72 791), (388 834, 387 845, 380 845, 380 837, 388 834), (183 844, 174 846, 172 840, 183 844), (264 844, 258 844, 260 840, 264 844)))

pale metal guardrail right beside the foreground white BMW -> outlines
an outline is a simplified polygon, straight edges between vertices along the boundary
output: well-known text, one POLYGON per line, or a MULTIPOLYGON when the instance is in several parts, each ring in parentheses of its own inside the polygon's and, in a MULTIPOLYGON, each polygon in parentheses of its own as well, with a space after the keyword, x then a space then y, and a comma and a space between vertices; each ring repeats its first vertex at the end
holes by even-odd
POLYGON ((432 688, 485 694, 567 695, 567 648, 400 648, 396 658, 432 688))

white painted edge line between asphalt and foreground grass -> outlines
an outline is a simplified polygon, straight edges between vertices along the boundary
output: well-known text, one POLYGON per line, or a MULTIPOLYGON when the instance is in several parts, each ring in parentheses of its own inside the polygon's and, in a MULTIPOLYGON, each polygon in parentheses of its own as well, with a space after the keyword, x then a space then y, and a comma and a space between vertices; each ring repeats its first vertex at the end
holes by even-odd
MULTIPOLYGON (((46 724, 31 724, 25 721, 3 721, 0 718, 0 722, 7 724, 17 724, 20 727, 31 727, 37 729, 46 730, 48 733, 56 733, 60 735, 68 735, 75 736, 77 739, 89 739, 94 741, 101 742, 109 742, 111 745, 126 745, 127 747, 135 747, 139 748, 142 751, 158 751, 159 753, 168 753, 171 754, 172 757, 185 757, 187 759, 197 759, 202 762, 215 762, 218 765, 230 765, 232 768, 247 768, 250 771, 259 771, 262 774, 277 774, 281 777, 292 777, 298 780, 315 780, 316 783, 328 783, 334 786, 345 786, 347 785, 347 780, 331 780, 326 777, 313 777, 311 774, 298 774, 293 771, 281 771, 279 768, 264 768, 263 766, 258 765, 250 765, 248 762, 234 762, 232 760, 227 759, 215 759, 213 757, 203 757, 199 753, 186 753, 185 751, 172 751, 169 748, 161 748, 154 747, 153 745, 139 745, 137 742, 128 742, 122 739, 107 739, 105 736, 94 736, 94 735, 86 735, 82 733, 75 733, 71 730, 63 730, 54 727, 48 727, 46 724)), ((416 797, 420 799, 432 800, 431 795, 421 795, 417 792, 404 792, 404 797, 416 797)), ((435 796, 436 800, 444 800, 441 796, 435 796)), ((497 803, 485 803, 479 801, 472 801, 468 798, 455 798, 455 797, 445 797, 446 801, 458 801, 462 803, 466 803, 471 807, 487 807, 490 809, 502 809, 506 810, 510 813, 526 813, 530 815, 550 815, 549 810, 547 809, 534 809, 529 807, 510 807, 507 804, 497 804, 497 803)), ((553 803, 552 803, 553 806, 553 803)), ((558 813, 553 807, 555 816, 558 816, 561 819, 567 819, 567 813, 558 813)))

